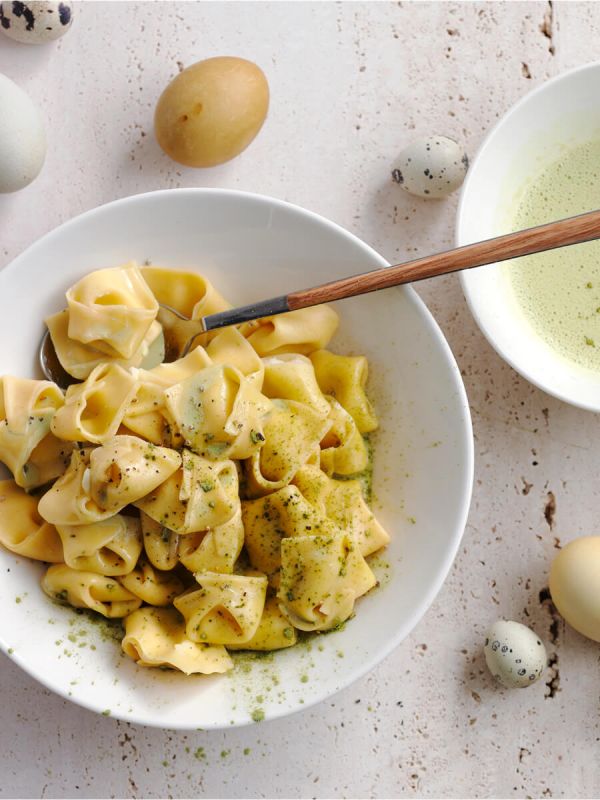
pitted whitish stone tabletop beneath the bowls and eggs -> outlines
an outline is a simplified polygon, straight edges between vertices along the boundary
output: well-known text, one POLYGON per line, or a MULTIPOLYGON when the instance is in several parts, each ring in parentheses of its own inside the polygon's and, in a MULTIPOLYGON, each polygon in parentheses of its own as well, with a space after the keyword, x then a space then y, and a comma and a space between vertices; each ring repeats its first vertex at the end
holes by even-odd
MULTIPOLYGON (((41 107, 49 153, 31 187, 0 196, 0 264, 85 209, 172 186, 292 200, 389 259, 450 246, 456 200, 403 194, 394 156, 429 133, 473 154, 525 92, 597 58, 600 5, 550 14, 545 2, 87 2, 54 46, 1 38, 0 71, 41 107), (263 66, 271 112, 240 158, 186 170, 153 138, 154 104, 180 65, 217 54, 263 66)), ((455 278, 419 291, 463 371, 476 483, 460 554, 414 633, 330 702, 211 734, 96 717, 2 657, 3 796, 598 796, 600 650, 553 619, 544 589, 555 548, 598 533, 600 420, 501 362, 455 278), (544 638, 548 683, 494 685, 481 644, 501 615, 544 638)))

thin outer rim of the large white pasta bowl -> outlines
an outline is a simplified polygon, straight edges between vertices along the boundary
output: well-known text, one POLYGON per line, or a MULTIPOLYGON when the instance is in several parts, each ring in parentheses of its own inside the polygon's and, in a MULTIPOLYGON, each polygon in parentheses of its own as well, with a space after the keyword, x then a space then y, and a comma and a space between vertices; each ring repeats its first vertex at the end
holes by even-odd
MULTIPOLYGON (((143 201, 144 199, 150 199, 156 197, 167 198, 174 194, 177 195, 188 194, 190 195, 190 197, 199 195, 206 195, 206 196, 219 195, 223 197, 231 197, 235 199, 249 200, 251 202, 258 202, 260 204, 267 205, 271 208, 275 207, 291 211, 293 214, 297 214, 310 219, 313 223, 324 226, 325 228, 329 228, 330 230, 334 231, 338 236, 342 236, 349 239, 358 248, 362 249, 366 255, 370 256, 373 261, 376 261, 382 267, 389 266, 389 262, 386 259, 384 259, 383 256, 381 256, 374 248, 372 248, 358 236, 351 233, 338 223, 328 219, 327 217, 324 217, 314 211, 305 209, 302 206, 290 203, 285 200, 280 200, 278 198, 271 197, 269 195, 259 194, 255 192, 247 192, 237 189, 221 189, 216 187, 191 187, 191 188, 157 189, 150 192, 139 192, 137 194, 128 195, 126 197, 108 201, 107 203, 95 206, 94 208, 88 209, 87 211, 84 211, 81 214, 71 217, 70 219, 61 223, 56 228, 53 228, 52 230, 42 235, 39 239, 32 242, 25 250, 23 250, 21 253, 19 253, 19 255, 17 255, 14 259, 12 259, 12 261, 9 262, 9 264, 7 264, 3 269, 1 269, 0 287, 2 286, 2 282, 10 279, 13 272, 19 268, 20 262, 22 260, 31 257, 32 254, 35 254, 38 250, 43 249, 48 243, 48 241, 51 241, 56 236, 62 235, 70 227, 74 227, 77 224, 80 224, 83 220, 87 220, 88 218, 93 217, 95 214, 106 211, 109 208, 114 209, 126 205, 133 205, 143 201)), ((347 676, 340 682, 338 688, 334 692, 331 691, 316 692, 310 699, 307 699, 307 701, 303 705, 298 706, 297 708, 294 709, 281 709, 280 713, 277 711, 276 713, 270 714, 268 718, 265 719, 265 721, 281 719, 283 717, 288 717, 293 714, 297 714, 301 711, 305 711, 308 710, 309 708, 312 708, 318 703, 321 703, 324 700, 333 697, 334 694, 337 694, 339 691, 347 689, 357 680, 364 677, 364 675, 366 675, 368 672, 374 669, 385 658, 387 658, 390 655, 390 653, 393 650, 395 650, 401 644, 401 642, 410 634, 410 632, 416 627, 416 625, 418 625, 418 623, 422 620, 422 618, 428 611, 429 607, 435 600, 436 596, 438 595, 439 591, 441 590, 443 584, 446 581, 446 578, 448 576, 452 564, 454 563, 454 560, 458 552, 458 548, 460 546, 464 532, 466 530, 467 519, 469 515, 472 493, 473 493, 474 439, 473 439, 471 411, 469 407, 466 389, 460 373, 460 369, 458 367, 458 364, 456 363, 454 354, 452 353, 450 345, 448 344, 446 337, 444 336, 440 326, 435 320, 433 314, 427 308, 425 302, 412 288, 412 286, 405 285, 402 287, 396 287, 392 289, 392 291, 403 291, 408 294, 411 301, 416 305, 423 320, 423 323, 428 327, 430 333, 435 337, 436 344, 440 347, 449 368, 449 378, 453 384, 453 389, 456 393, 457 406, 461 412, 460 417, 457 419, 457 430, 461 429, 460 442, 462 447, 464 448, 464 453, 463 453, 464 469, 461 481, 461 499, 460 499, 460 507, 457 508, 458 521, 454 530, 452 531, 452 536, 451 537, 448 536, 447 540, 448 548, 446 556, 442 564, 438 568, 437 572, 433 575, 429 590, 423 595, 420 603, 417 605, 416 609, 413 611, 410 617, 407 617, 404 623, 397 627, 395 635, 387 640, 385 646, 379 648, 376 651, 376 653, 374 653, 368 659, 365 659, 365 661, 363 661, 359 667, 356 667, 355 669, 351 670, 347 674, 347 676)), ((36 671, 34 665, 30 664, 25 659, 19 657, 19 654, 17 652, 9 654, 8 644, 4 641, 1 631, 0 631, 0 649, 6 655, 9 655, 11 660, 14 661, 21 669, 23 669, 24 672, 26 672, 38 683, 40 683, 41 685, 45 686, 47 689, 52 691, 54 694, 62 697, 64 700, 68 700, 74 703, 75 705, 85 708, 86 710, 93 711, 96 713, 102 713, 101 703, 95 702, 93 698, 79 697, 75 695, 69 696, 66 693, 66 691, 61 690, 61 688, 55 686, 50 679, 47 679, 43 670, 36 671)), ((125 714, 120 714, 118 711, 115 710, 111 716, 114 719, 122 719, 126 722, 136 725, 156 727, 161 729, 164 729, 165 727, 160 723, 158 719, 150 718, 147 715, 143 714, 133 713, 125 715, 125 714)), ((249 719, 247 721, 236 722, 235 727, 244 727, 245 725, 251 725, 251 724, 253 724, 253 721, 249 719)), ((203 730, 219 730, 224 728, 230 729, 231 726, 229 724, 205 725, 203 727, 203 730)), ((172 724, 170 724, 169 730, 171 729, 196 730, 194 726, 186 724, 181 724, 177 726, 173 726, 172 724)))

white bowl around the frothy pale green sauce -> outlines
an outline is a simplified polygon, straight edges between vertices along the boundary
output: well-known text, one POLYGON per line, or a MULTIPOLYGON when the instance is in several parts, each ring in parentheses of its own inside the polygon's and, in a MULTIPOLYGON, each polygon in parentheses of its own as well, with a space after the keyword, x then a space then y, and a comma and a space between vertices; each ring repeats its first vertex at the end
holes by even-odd
MULTIPOLYGON (((600 63, 566 72, 525 95, 491 130, 471 163, 456 221, 457 246, 511 230, 511 205, 566 147, 600 136, 600 63)), ((461 274, 481 331, 517 372, 572 405, 600 411, 600 372, 559 355, 518 307, 502 265, 461 274)))

